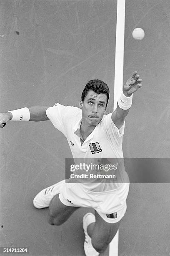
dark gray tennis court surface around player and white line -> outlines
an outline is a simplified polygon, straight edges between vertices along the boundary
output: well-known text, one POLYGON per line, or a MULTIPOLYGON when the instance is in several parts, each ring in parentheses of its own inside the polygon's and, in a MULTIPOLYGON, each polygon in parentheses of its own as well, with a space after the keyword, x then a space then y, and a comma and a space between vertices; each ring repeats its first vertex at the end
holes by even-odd
MULTIPOLYGON (((1 0, 0 110, 78 106, 86 82, 96 78, 110 87, 112 112, 116 8, 116 0, 1 0)), ((169 24, 168 0, 126 1, 124 81, 135 70, 143 78, 126 118, 128 158, 170 156, 169 24), (131 36, 136 27, 145 31, 142 41, 131 36)), ((30 255, 83 255, 88 209, 56 228, 47 224, 47 210, 32 206, 37 192, 65 177, 71 153, 64 136, 48 121, 10 122, 0 140, 1 246, 27 246, 30 255)), ((131 184, 120 255, 169 255, 169 190, 169 184, 131 184)))

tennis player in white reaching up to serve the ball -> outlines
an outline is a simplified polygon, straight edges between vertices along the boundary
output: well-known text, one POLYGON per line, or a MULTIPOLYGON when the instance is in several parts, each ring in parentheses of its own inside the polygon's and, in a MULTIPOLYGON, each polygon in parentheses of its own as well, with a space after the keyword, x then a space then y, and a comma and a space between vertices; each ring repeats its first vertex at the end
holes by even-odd
MULTIPOLYGON (((9 120, 50 120, 67 138, 74 159, 122 159, 125 117, 132 105, 133 93, 142 86, 141 82, 138 72, 133 72, 123 85, 116 110, 107 115, 109 88, 95 79, 86 84, 80 108, 56 103, 49 108, 35 106, 12 110, 0 113, 0 127, 9 120)), ((73 179, 74 176, 75 173, 73 179)), ((38 209, 49 207, 51 225, 61 225, 79 207, 92 207, 95 215, 88 212, 82 220, 84 250, 86 256, 97 256, 112 241, 125 215, 129 181, 125 173, 117 182, 105 182, 105 178, 96 182, 94 176, 90 182, 84 183, 78 178, 75 183, 62 180, 43 189, 35 196, 33 204, 38 209)))

